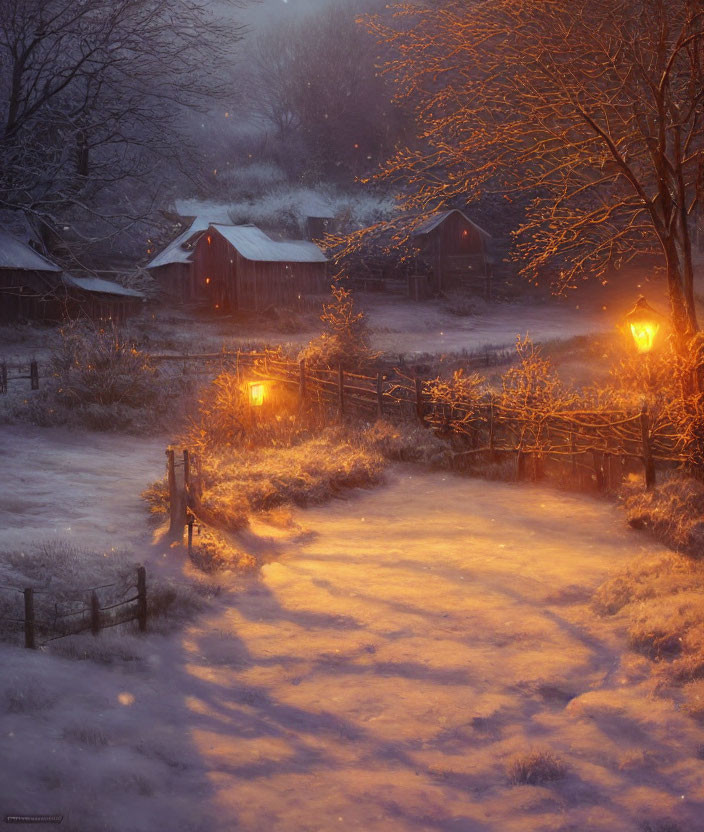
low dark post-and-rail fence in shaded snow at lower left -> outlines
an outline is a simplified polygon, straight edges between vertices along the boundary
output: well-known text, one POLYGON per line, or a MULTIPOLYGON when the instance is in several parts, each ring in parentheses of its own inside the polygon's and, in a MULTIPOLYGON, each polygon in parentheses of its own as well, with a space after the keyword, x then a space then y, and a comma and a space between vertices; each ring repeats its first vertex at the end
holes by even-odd
POLYGON ((24 646, 29 649, 88 630, 97 636, 103 629, 130 621, 138 622, 140 632, 147 629, 147 573, 143 566, 137 568, 135 583, 77 590, 73 599, 53 601, 50 590, 34 587, 0 586, 0 591, 15 593, 18 598, 16 614, 0 615, 0 623, 23 631, 24 646), (107 589, 113 592, 103 592, 107 589), (132 597, 125 598, 129 593, 132 597))

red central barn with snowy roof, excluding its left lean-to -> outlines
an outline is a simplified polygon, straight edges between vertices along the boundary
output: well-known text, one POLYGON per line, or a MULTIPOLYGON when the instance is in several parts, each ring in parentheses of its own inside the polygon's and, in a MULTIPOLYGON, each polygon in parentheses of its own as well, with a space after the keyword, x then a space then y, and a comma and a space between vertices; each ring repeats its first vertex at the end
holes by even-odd
POLYGON ((326 288, 327 258, 306 240, 272 240, 253 225, 210 225, 193 253, 197 293, 211 309, 296 307, 326 288))

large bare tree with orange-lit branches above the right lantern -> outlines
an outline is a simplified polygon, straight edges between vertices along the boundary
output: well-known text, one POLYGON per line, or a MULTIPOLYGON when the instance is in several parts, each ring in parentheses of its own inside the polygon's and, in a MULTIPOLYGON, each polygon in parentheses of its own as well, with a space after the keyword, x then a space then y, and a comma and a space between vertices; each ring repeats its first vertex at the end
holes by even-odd
POLYGON ((657 252, 678 349, 698 329, 690 216, 704 177, 701 0, 442 0, 369 24, 416 110, 388 161, 406 207, 530 197, 517 251, 557 289, 657 252))

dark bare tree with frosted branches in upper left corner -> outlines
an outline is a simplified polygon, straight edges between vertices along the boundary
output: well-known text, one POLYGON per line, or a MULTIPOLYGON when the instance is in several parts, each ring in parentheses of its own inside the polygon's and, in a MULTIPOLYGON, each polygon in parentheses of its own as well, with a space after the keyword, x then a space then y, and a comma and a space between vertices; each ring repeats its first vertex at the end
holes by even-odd
POLYGON ((205 0, 0 0, 0 203, 50 222, 181 149, 228 92, 233 23, 205 0))

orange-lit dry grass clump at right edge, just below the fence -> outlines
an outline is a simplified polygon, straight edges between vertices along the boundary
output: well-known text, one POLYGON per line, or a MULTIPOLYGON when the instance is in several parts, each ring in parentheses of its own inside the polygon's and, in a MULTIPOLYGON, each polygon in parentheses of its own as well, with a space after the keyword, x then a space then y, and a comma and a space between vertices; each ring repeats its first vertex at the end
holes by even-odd
POLYGON ((646 529, 673 549, 699 557, 704 553, 704 485, 671 474, 652 491, 626 499, 628 522, 646 529))

